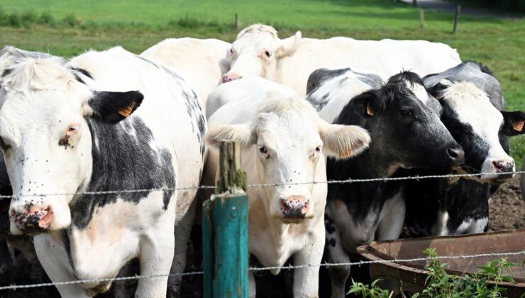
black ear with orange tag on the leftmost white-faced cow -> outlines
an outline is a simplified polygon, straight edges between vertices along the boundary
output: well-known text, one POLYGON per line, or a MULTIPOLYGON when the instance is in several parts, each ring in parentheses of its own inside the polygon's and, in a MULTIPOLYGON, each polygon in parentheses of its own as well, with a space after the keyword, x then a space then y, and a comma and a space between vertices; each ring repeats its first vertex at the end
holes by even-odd
POLYGON ((133 114, 143 99, 143 94, 138 91, 96 91, 88 105, 93 110, 92 117, 113 124, 133 114))

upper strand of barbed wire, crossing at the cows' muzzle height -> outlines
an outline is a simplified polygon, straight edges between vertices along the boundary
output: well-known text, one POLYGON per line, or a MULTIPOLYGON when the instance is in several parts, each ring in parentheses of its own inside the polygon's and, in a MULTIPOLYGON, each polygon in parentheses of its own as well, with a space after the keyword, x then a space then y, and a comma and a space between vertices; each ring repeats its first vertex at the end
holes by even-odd
MULTIPOLYGON (((306 184, 344 184, 344 183, 359 183, 359 182, 387 182, 387 181, 402 181, 402 180, 424 180, 436 178, 461 178, 461 177, 480 177, 482 175, 503 176, 503 175, 523 175, 525 171, 516 172, 500 172, 500 173, 476 173, 476 174, 447 174, 447 175, 425 175, 425 176, 407 176, 407 177, 380 177, 369 179, 346 179, 346 180, 327 180, 327 181, 312 181, 312 182, 284 182, 284 183, 261 183, 261 184, 247 184, 246 187, 278 187, 287 185, 306 185, 306 184)), ((103 190, 96 192, 70 192, 70 193, 56 193, 56 194, 18 194, 18 196, 0 195, 0 199, 11 199, 13 197, 52 197, 52 196, 74 196, 74 195, 95 195, 95 194, 126 194, 136 192, 166 192, 175 190, 189 190, 189 189, 215 189, 214 185, 201 185, 194 187, 160 187, 150 189, 121 189, 121 190, 103 190)))

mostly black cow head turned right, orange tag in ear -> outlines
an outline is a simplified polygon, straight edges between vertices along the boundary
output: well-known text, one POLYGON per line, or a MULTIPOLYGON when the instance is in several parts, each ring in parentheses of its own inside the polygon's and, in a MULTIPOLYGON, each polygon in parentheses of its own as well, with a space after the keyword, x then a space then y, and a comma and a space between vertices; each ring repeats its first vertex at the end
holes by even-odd
MULTIPOLYGON (((380 89, 351 99, 336 123, 359 124, 372 137, 370 154, 393 174, 399 167, 448 170, 463 162, 463 150, 439 119, 436 101, 413 72, 394 75, 380 89)), ((436 101, 437 103, 437 101, 436 101)))

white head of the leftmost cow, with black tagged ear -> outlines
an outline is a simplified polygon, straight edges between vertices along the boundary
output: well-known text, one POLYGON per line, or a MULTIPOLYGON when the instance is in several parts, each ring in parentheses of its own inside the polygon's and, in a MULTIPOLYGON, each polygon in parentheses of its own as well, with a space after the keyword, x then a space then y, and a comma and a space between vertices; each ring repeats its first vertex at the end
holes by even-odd
POLYGON ((88 119, 116 123, 143 99, 139 92, 93 92, 81 75, 90 77, 62 59, 25 57, 1 77, 0 147, 13 187, 13 234, 70 225, 69 204, 92 172, 88 119))

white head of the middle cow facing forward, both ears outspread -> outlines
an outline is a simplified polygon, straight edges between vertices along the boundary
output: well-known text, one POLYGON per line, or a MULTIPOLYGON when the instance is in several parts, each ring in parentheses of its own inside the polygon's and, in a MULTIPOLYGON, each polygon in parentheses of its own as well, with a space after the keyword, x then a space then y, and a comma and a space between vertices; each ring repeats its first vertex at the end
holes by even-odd
POLYGON ((319 181, 316 167, 323 154, 347 158, 370 142, 363 128, 328 124, 301 98, 272 101, 253 123, 212 128, 206 138, 212 145, 241 142, 244 154, 255 156, 256 168, 249 170, 256 171, 258 181, 278 184, 264 188, 267 213, 284 222, 314 216, 311 182, 319 181))

